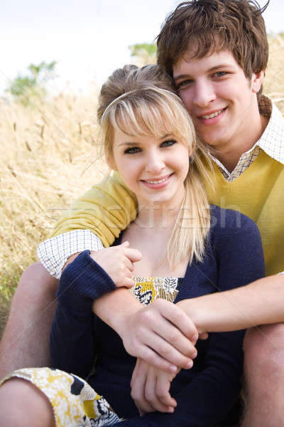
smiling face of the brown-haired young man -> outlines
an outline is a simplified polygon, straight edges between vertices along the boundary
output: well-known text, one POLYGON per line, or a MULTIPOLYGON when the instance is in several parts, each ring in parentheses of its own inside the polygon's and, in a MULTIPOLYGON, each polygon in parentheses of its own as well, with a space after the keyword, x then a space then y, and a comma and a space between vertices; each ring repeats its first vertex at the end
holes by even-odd
POLYGON ((220 152, 243 145, 246 151, 256 142, 262 72, 249 80, 230 51, 219 51, 201 59, 185 54, 173 66, 173 78, 204 142, 220 152))

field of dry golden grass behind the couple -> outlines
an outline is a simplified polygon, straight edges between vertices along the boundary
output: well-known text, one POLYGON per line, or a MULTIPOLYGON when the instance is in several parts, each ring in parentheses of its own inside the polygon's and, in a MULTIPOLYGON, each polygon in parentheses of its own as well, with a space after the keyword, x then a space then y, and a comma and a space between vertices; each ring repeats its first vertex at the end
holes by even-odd
MULTIPOLYGON (((284 112, 284 38, 271 39, 264 93, 284 112)), ((32 108, 0 102, 0 336, 9 300, 62 210, 107 168, 97 158, 97 94, 32 108), (86 170, 87 168, 87 170, 86 170)))

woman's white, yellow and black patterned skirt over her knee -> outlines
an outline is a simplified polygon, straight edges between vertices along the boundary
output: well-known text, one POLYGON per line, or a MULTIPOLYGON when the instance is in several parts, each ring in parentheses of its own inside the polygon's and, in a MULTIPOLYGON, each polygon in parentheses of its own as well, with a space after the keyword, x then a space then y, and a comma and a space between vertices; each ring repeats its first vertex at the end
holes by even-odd
POLYGON ((48 397, 56 427, 106 427, 124 421, 111 409, 104 397, 79 376, 60 369, 24 368, 13 371, 7 379, 31 381, 48 397))

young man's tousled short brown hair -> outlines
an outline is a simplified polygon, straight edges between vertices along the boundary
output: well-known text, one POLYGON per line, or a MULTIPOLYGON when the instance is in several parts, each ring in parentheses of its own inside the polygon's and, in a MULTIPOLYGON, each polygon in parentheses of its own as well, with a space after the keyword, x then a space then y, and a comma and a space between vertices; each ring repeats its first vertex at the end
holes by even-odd
POLYGON ((173 75, 173 64, 188 53, 203 58, 208 53, 229 50, 247 78, 266 69, 268 40, 255 0, 184 1, 163 23, 158 36, 158 63, 173 75))

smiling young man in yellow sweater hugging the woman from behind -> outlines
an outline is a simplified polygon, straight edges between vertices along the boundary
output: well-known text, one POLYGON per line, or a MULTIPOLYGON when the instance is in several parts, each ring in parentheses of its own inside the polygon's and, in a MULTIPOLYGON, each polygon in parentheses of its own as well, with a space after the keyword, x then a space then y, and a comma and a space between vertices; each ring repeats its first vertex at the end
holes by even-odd
MULTIPOLYGON (((284 270, 284 120, 271 101, 260 95, 267 60, 266 30, 261 11, 253 1, 187 1, 168 17, 158 37, 158 62, 173 76, 178 94, 191 113, 200 137, 213 149, 212 177, 216 190, 213 192, 204 183, 209 200, 222 207, 239 209, 253 218, 261 231, 266 273, 275 275, 284 270)), ((85 248, 102 248, 102 243, 109 245, 135 216, 135 201, 119 178, 104 181, 67 211, 55 228, 55 237, 40 247, 40 258, 50 273, 59 277, 70 255, 85 248), (66 241, 75 242, 68 251, 64 249, 66 241)), ((136 253, 124 252, 124 255, 133 262, 137 260, 136 253)), ((107 265, 103 250, 94 254, 94 258, 107 265)), ((115 279, 116 273, 109 272, 111 274, 115 279)), ((283 278, 275 275, 234 290, 229 296, 212 295, 214 300, 200 300, 198 304, 205 307, 204 317, 212 313, 209 323, 212 326, 213 320, 216 322, 215 330, 231 318, 233 328, 283 322, 279 298, 279 292, 284 292, 283 278), (218 304, 221 307, 219 315, 218 304)), ((39 265, 23 274, 2 342, 1 359, 6 371, 47 363, 46 342, 52 307, 48 308, 49 313, 45 312, 44 321, 33 323, 35 329, 30 337, 23 334, 21 341, 15 344, 13 333, 21 325, 20 310, 24 325, 33 317, 38 319, 45 302, 53 301, 56 287, 57 281, 39 265), (41 286, 38 281, 42 282, 41 286), (31 298, 35 305, 27 307, 31 298), (41 354, 37 356, 27 352, 28 349, 38 351, 34 337, 41 338, 38 340, 41 354), (17 349, 21 351, 18 361, 12 356, 17 349), (11 358, 10 366, 7 358, 11 358)), ((169 368, 165 359, 182 367, 189 362, 192 354, 187 352, 185 342, 186 318, 177 307, 171 306, 168 310, 160 304, 148 311, 140 310, 127 291, 119 290, 96 302, 94 310, 121 334, 131 354, 156 365, 162 364, 165 369, 169 368), (127 305, 126 298, 129 298, 127 305), (121 307, 124 307, 123 320, 121 307), (147 322, 143 322, 145 319, 147 322), (124 322, 130 320, 133 321, 133 334, 126 334, 124 322), (138 320, 140 326, 136 328, 138 320), (159 347, 155 347, 157 333, 163 337, 159 347)), ((198 325, 204 320, 198 319, 195 309, 187 314, 199 332, 203 332, 198 325)), ((204 330, 209 329, 204 327, 204 330)), ((245 427, 273 427, 283 422, 283 339, 282 325, 250 330, 246 336, 248 406, 245 427)))

